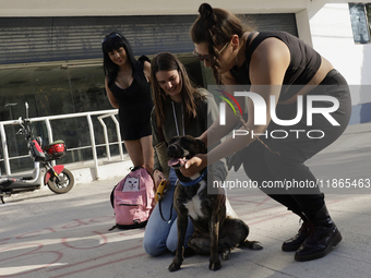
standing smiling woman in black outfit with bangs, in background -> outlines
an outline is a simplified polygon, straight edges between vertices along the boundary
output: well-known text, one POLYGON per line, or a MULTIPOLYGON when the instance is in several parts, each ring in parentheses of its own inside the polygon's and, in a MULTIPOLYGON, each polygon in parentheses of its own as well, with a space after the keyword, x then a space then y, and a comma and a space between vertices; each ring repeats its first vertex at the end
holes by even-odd
POLYGON ((129 41, 119 33, 101 40, 105 84, 108 99, 119 109, 120 135, 134 167, 151 174, 154 166, 152 147, 149 59, 135 60, 129 41))

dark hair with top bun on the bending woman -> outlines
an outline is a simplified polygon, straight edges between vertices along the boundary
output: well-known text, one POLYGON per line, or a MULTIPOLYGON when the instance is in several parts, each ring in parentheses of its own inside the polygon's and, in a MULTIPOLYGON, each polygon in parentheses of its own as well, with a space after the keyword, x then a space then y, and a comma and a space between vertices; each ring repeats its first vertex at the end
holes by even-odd
POLYGON ((199 8, 199 17, 191 26, 190 35, 194 44, 206 43, 208 45, 208 55, 213 74, 216 84, 222 84, 219 74, 220 62, 219 50, 227 44, 234 35, 241 39, 248 28, 241 23, 235 14, 218 8, 212 8, 208 3, 203 3, 199 8))

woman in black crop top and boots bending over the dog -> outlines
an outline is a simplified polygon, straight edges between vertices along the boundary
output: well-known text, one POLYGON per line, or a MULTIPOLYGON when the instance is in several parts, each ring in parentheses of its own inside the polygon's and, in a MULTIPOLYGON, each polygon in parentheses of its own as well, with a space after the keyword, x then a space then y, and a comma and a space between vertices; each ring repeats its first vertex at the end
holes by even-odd
MULTIPOLYGON (((193 55, 213 70, 217 84, 234 85, 234 88, 223 87, 230 89, 229 96, 241 84, 239 92, 252 92, 249 96, 253 101, 249 99, 247 124, 241 128, 244 136, 230 136, 207 156, 190 159, 183 174, 190 177, 206 165, 237 153, 236 161, 243 162, 249 178, 303 220, 299 232, 284 242, 283 251, 296 251, 297 261, 325 256, 342 241, 342 234, 304 161, 332 144, 346 129, 351 108, 347 82, 327 60, 295 36, 285 32, 247 32, 234 14, 207 3, 201 4, 199 12, 191 27, 193 55), (310 101, 321 98, 321 101, 309 102, 307 98, 310 101), (309 106, 307 119, 307 102, 314 104, 322 112, 312 113, 309 106), (284 181, 308 186, 263 188, 284 181)), ((235 100, 241 106, 240 111, 244 111, 244 97, 242 101, 241 97, 231 98, 230 102, 235 100)), ((238 118, 226 107, 226 124, 219 125, 218 120, 200 136, 208 146, 236 132, 238 118)), ((240 164, 234 165, 235 170, 240 164)))

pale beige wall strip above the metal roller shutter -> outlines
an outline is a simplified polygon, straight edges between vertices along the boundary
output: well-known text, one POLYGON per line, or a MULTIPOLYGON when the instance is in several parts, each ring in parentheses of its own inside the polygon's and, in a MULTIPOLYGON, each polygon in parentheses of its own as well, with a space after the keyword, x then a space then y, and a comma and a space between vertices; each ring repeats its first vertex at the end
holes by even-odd
POLYGON ((0 16, 196 14, 199 5, 235 13, 297 12, 310 0, 0 0, 0 16))

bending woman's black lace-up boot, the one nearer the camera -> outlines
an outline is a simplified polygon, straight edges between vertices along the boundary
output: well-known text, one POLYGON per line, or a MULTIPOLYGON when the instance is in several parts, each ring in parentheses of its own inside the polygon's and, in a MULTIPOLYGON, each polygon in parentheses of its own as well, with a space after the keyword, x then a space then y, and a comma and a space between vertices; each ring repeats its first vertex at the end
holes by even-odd
POLYGON ((331 219, 324 205, 319 211, 308 216, 313 223, 313 231, 295 253, 295 259, 299 262, 311 261, 328 254, 333 246, 342 241, 342 234, 331 219))

